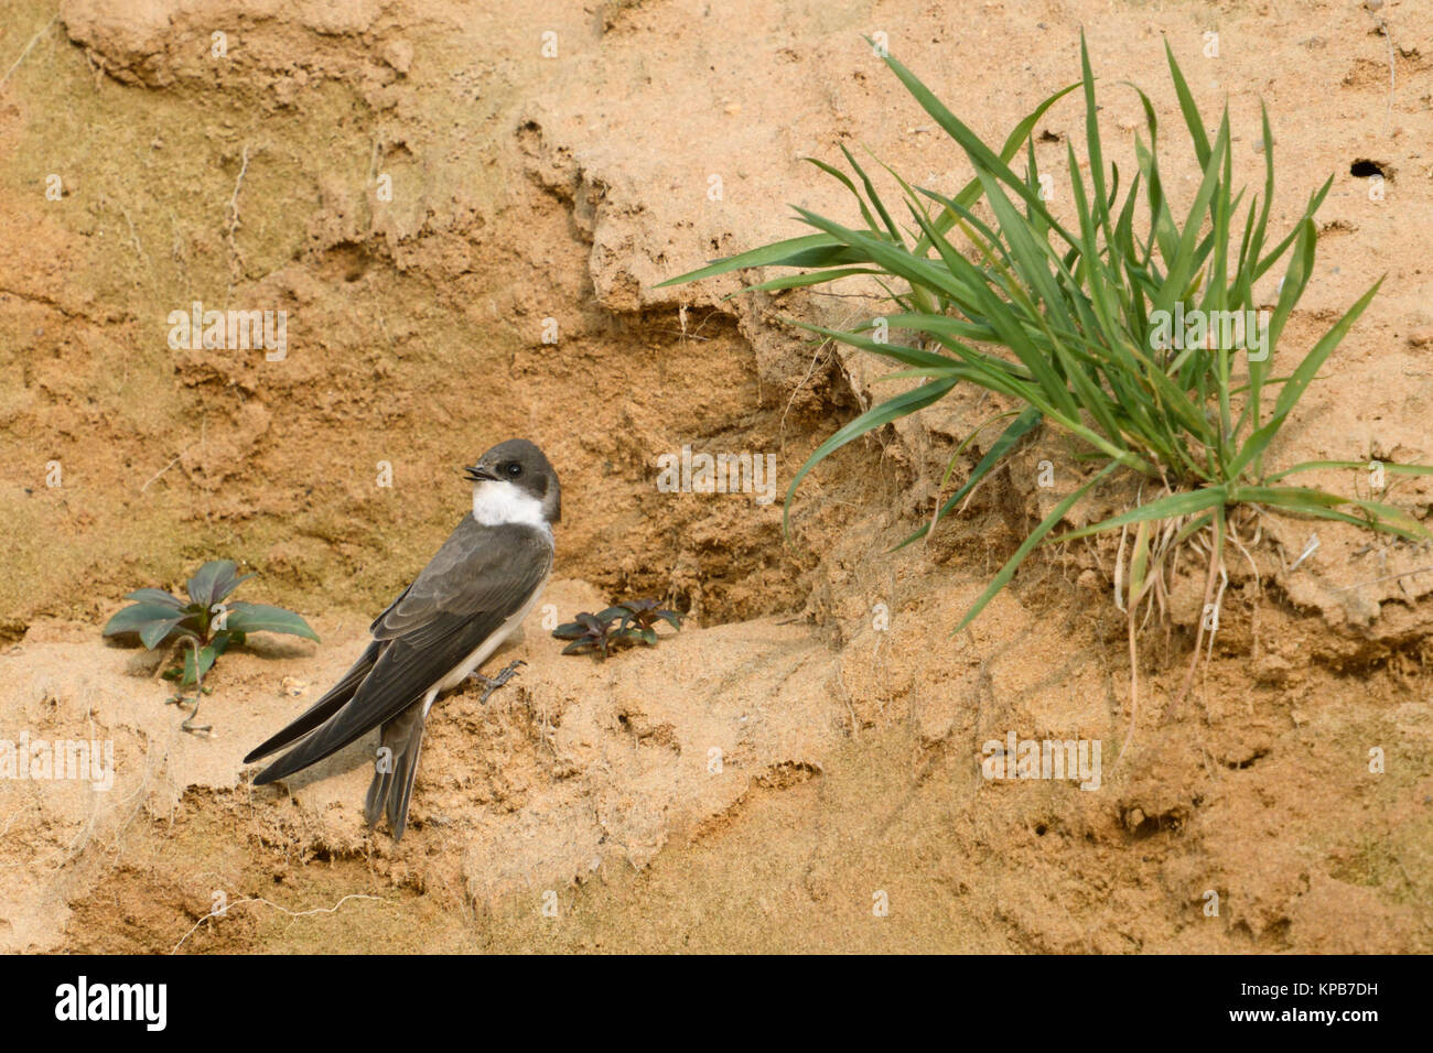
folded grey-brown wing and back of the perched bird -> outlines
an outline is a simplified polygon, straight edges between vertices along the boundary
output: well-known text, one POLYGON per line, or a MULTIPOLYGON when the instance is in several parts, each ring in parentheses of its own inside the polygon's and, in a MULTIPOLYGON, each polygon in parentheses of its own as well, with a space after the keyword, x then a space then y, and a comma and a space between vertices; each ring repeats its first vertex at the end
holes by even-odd
POLYGON ((552 570, 552 539, 466 516, 408 590, 374 623, 381 648, 353 699, 265 768, 272 782, 321 761, 420 701, 517 613, 552 570))

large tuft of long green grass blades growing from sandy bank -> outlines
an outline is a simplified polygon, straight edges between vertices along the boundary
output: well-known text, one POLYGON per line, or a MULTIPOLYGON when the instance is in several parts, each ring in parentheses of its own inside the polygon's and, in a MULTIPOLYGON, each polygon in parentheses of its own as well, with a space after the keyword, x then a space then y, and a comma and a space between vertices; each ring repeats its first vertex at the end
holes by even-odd
MULTIPOLYGON (((1244 191, 1234 193, 1231 186, 1228 107, 1211 135, 1168 44, 1165 50, 1202 173, 1184 216, 1172 212, 1165 193, 1155 110, 1138 87, 1134 90, 1144 107, 1146 135, 1136 135, 1138 170, 1121 196, 1119 169, 1111 165, 1106 170, 1102 155, 1095 76, 1083 39, 1080 80, 1042 102, 1015 128, 999 152, 946 109, 914 73, 887 57, 886 63, 901 83, 964 152, 976 178, 954 198, 947 198, 911 186, 891 172, 909 213, 909 222, 901 226, 856 158, 843 148, 856 179, 824 162, 813 163, 856 198, 861 226, 844 226, 797 209, 815 234, 719 259, 663 282, 689 282, 754 266, 798 268, 801 272, 748 289, 798 288, 867 275, 881 282, 898 308, 896 314, 873 318, 851 331, 795 322, 897 362, 903 368, 893 378, 920 378, 923 383, 874 405, 823 443, 791 481, 787 516, 801 480, 834 450, 936 403, 960 383, 1006 395, 1019 408, 1002 418, 1009 423, 970 479, 903 544, 931 530, 1037 425, 1050 425, 1070 437, 1076 456, 1093 461, 1095 474, 1030 532, 966 612, 957 632, 984 609, 1042 543, 1122 532, 1116 603, 1128 610, 1134 635, 1135 609, 1146 597, 1162 593, 1155 586, 1161 585, 1169 554, 1202 532, 1209 534, 1207 600, 1212 596, 1234 526, 1230 519, 1235 514, 1274 511, 1354 523, 1412 540, 1433 536, 1407 513, 1387 504, 1283 481, 1303 471, 1367 467, 1363 461, 1307 461, 1280 471, 1265 470, 1264 454, 1270 443, 1369 307, 1379 284, 1348 308, 1293 371, 1274 375, 1278 338, 1313 274, 1314 213, 1333 178, 1310 196, 1293 229, 1270 244, 1274 136, 1268 113, 1262 115, 1262 196, 1255 193, 1250 199, 1240 221, 1244 191), (1075 90, 1085 102, 1089 176, 1082 175, 1073 148, 1068 148, 1076 222, 1066 226, 1040 198, 1040 172, 1030 136, 1045 112, 1075 90), (1025 173, 1017 175, 1010 162, 1022 148, 1026 165, 1025 173), (983 205, 993 225, 976 213, 977 205, 983 205), (954 241, 957 235, 960 244, 954 241), (1230 347, 1231 341, 1179 347, 1172 340, 1169 319, 1161 312, 1197 309, 1214 318, 1219 317, 1214 312, 1257 312, 1261 305, 1254 287, 1275 266, 1283 266, 1284 275, 1267 315, 1267 342, 1257 354, 1247 355, 1241 377, 1235 377, 1235 360, 1245 351, 1230 347), (887 328, 907 331, 914 340, 910 345, 880 340, 887 328), (1142 477, 1158 496, 1101 523, 1053 533, 1085 493, 1115 473, 1142 477), (1125 543, 1131 530, 1135 539, 1126 573, 1125 543)), ((1426 466, 1390 464, 1384 470, 1433 473, 1433 467, 1426 466)), ((1234 537, 1237 540, 1237 532, 1234 537)), ((1202 623, 1199 639, 1202 642, 1202 623)), ((1198 648, 1197 643, 1197 656, 1198 648)))

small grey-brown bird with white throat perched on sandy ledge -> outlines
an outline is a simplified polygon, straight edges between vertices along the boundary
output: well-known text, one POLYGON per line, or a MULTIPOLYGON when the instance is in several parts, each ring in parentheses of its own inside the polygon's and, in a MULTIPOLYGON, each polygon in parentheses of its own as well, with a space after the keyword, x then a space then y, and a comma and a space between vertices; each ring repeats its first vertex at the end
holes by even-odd
POLYGON ((373 640, 338 683, 244 758, 252 764, 292 746, 254 785, 292 775, 381 726, 364 818, 373 830, 387 812, 393 840, 401 841, 434 701, 471 676, 484 685, 486 702, 522 665, 492 679, 476 672, 552 576, 553 526, 562 519, 557 473, 535 443, 510 438, 463 474, 473 484, 473 510, 374 619, 373 640))

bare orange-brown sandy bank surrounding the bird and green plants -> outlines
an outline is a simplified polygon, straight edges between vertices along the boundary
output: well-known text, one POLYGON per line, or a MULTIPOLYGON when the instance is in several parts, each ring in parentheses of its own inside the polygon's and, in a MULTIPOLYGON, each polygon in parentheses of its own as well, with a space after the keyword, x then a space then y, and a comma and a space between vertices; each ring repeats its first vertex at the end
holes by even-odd
MULTIPOLYGON (((1334 176, 1281 354, 1387 274, 1274 457, 1433 461, 1417 4, 552 7, 10 6, 0 739, 110 741, 115 782, 0 781, 0 948, 1433 950, 1427 550, 1320 524, 1290 569, 1311 527, 1270 521, 1230 567, 1178 713, 1199 583, 1145 636, 1141 721, 1111 771, 1131 698, 1109 544, 1032 560, 952 636, 1059 500, 1036 464, 1073 479, 1058 437, 893 556, 989 415, 974 395, 833 457, 790 543, 780 500, 655 486, 656 457, 691 444, 774 453, 784 490, 888 390, 884 367, 781 321, 868 315, 858 295, 653 288, 800 232, 791 203, 848 215, 804 156, 845 143, 944 189, 969 178, 861 40, 874 32, 995 139, 1076 76, 1083 26, 1125 170, 1139 112, 1118 80, 1178 120, 1162 40, 1207 113, 1228 100, 1251 185, 1264 99, 1275 225, 1334 176), (1381 201, 1360 160, 1386 173, 1381 201), (166 318, 192 301, 285 309, 287 358, 172 351, 166 318), (494 659, 526 659, 520 676, 436 711, 397 847, 360 817, 371 742, 252 788, 242 755, 347 666, 461 514, 456 467, 513 434, 563 480, 555 613, 651 595, 686 629, 598 663, 559 656, 536 610, 494 659), (130 589, 221 556, 322 643, 224 656, 201 739, 163 705, 158 658, 99 628, 130 589), (983 779, 980 746, 1007 731, 1102 739, 1102 785, 983 779)), ((1042 160, 1066 140, 1082 155, 1080 117, 1052 110, 1042 160)), ((1188 196, 1192 158, 1165 163, 1188 196)), ((1433 487, 1394 500, 1426 516, 1433 487)))

